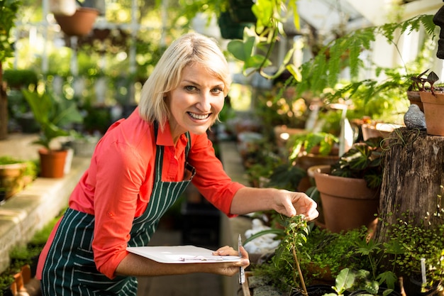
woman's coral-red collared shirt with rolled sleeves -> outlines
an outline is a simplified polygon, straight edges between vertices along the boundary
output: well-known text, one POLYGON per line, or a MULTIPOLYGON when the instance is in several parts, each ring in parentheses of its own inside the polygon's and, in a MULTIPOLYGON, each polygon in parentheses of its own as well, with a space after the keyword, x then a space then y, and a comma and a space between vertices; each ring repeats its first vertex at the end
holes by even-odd
MULTIPOLYGON (((231 201, 243 185, 226 175, 206 134, 191 134, 191 139, 187 160, 196 168, 193 184, 216 208, 231 216, 231 201)), ((101 138, 88 170, 70 196, 72 209, 95 216, 94 261, 109 278, 114 277, 118 264, 128 254, 133 219, 143 214, 149 202, 156 144, 165 146, 162 181, 182 181, 187 137, 182 135, 174 146, 167 124, 164 131, 158 129, 155 143, 154 126, 141 119, 136 109, 101 138)), ((40 261, 46 254, 44 250, 40 261)))

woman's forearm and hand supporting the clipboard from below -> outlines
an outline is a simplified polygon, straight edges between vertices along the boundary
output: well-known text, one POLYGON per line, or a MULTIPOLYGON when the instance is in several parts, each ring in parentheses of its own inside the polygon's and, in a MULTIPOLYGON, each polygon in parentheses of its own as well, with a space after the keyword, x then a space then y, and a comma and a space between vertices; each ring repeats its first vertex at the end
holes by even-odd
MULTIPOLYGON (((246 268, 250 261, 248 253, 243 247, 240 248, 242 260, 223 263, 185 263, 167 264, 158 263, 148 258, 128 253, 117 266, 116 275, 133 276, 157 276, 157 275, 183 275, 188 273, 215 273, 218 275, 232 276, 239 272, 239 268, 246 268)), ((238 251, 225 246, 213 253, 219 256, 238 256, 238 251)))

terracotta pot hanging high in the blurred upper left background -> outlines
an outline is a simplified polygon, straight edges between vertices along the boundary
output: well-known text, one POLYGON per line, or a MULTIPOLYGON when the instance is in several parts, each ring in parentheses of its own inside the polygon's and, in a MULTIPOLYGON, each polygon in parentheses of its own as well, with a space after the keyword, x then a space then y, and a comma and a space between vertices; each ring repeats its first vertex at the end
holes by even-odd
POLYGON ((72 16, 55 14, 54 17, 66 35, 83 36, 91 31, 98 14, 97 9, 80 7, 72 16))

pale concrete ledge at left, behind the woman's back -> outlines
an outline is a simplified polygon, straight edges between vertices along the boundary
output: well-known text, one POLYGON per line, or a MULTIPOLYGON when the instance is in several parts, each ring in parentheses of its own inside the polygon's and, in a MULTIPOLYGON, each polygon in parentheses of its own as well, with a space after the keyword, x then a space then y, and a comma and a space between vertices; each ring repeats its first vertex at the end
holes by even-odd
POLYGON ((89 158, 74 158, 65 177, 37 178, 0 207, 0 273, 9 266, 9 252, 14 246, 30 241, 36 231, 67 207, 71 191, 89 161, 89 158))

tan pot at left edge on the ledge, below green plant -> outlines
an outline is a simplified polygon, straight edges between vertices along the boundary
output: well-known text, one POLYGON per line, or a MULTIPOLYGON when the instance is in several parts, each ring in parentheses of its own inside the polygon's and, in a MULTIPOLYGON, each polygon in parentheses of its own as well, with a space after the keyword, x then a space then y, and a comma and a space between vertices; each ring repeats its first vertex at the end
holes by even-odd
POLYGON ((5 199, 9 199, 13 194, 23 190, 23 187, 25 187, 23 178, 25 170, 26 163, 0 165, 0 187, 6 188, 5 199))

